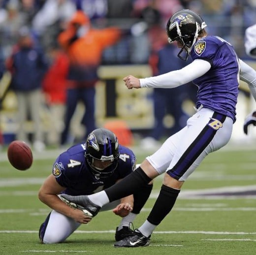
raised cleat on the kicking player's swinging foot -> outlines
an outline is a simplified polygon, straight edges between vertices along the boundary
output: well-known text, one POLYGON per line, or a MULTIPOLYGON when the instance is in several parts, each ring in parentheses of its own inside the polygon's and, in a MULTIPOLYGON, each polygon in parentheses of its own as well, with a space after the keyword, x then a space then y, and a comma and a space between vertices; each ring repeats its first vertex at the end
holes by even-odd
POLYGON ((67 194, 59 194, 59 198, 72 208, 82 210, 84 214, 95 217, 100 210, 100 206, 94 204, 87 195, 71 196, 67 194))

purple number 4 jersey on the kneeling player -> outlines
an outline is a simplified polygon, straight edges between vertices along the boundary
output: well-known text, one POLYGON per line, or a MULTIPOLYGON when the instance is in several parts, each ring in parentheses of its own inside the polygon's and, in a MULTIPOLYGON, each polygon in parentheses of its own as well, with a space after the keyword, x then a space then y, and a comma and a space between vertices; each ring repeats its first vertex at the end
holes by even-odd
POLYGON ((112 175, 106 178, 96 177, 85 159, 85 144, 77 144, 62 153, 55 161, 52 174, 56 181, 66 188, 70 195, 90 195, 106 189, 123 179, 134 169, 136 158, 133 152, 119 145, 118 165, 112 175))

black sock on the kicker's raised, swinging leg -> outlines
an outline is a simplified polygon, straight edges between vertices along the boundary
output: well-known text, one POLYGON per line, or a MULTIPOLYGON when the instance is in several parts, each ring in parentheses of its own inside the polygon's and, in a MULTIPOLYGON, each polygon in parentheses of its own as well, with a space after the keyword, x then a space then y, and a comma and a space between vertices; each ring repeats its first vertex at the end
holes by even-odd
POLYGON ((130 173, 120 182, 105 190, 110 202, 125 196, 133 194, 137 189, 140 189, 145 184, 148 184, 151 179, 145 172, 138 167, 134 172, 130 173))

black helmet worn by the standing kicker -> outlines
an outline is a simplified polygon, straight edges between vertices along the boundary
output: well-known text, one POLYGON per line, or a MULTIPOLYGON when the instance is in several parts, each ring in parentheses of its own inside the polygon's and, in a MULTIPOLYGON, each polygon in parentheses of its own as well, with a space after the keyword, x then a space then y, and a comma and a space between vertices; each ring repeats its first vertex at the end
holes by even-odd
POLYGON ((178 57, 187 61, 192 46, 196 42, 198 33, 207 27, 202 18, 192 10, 180 10, 175 12, 166 24, 166 32, 169 43, 179 41, 182 48, 178 57), (185 56, 181 56, 183 51, 185 56))

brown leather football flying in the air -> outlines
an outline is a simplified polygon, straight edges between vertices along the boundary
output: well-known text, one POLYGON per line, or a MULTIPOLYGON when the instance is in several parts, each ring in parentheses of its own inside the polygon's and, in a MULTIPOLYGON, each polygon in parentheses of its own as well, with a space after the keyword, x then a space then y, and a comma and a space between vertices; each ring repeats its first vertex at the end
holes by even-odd
POLYGON ((12 141, 7 149, 9 162, 18 170, 27 170, 33 162, 32 151, 28 144, 23 141, 12 141))

